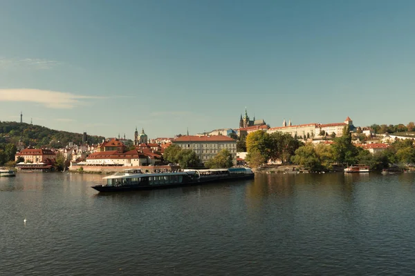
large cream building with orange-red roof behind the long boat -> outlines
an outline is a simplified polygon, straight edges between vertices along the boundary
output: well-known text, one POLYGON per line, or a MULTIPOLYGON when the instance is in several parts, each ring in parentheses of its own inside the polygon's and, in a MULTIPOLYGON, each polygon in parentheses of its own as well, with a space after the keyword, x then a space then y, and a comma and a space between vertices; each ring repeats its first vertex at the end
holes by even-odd
POLYGON ((232 154, 233 164, 237 164, 237 140, 228 136, 186 135, 174 139, 173 144, 178 145, 183 149, 193 150, 203 164, 214 158, 221 150, 226 148, 232 154))

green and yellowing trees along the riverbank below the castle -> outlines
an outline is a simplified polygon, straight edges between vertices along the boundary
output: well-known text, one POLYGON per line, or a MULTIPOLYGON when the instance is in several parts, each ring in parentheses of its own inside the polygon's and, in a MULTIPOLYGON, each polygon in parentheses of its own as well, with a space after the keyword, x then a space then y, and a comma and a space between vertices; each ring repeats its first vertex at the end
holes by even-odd
POLYGON ((253 168, 261 169, 268 160, 282 161, 282 165, 295 165, 307 171, 340 171, 352 164, 365 164, 370 170, 385 168, 412 168, 415 148, 412 139, 396 140, 382 152, 374 155, 352 143, 349 126, 341 137, 334 137, 330 144, 303 143, 288 134, 258 130, 246 136, 246 157, 253 168))

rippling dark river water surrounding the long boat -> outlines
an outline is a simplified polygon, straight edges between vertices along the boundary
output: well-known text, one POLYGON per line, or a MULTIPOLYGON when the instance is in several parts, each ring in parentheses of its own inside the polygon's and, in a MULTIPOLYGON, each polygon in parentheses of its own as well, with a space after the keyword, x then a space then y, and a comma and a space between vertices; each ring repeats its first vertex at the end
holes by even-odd
POLYGON ((100 183, 0 177, 0 275, 415 275, 415 173, 109 195, 100 183))

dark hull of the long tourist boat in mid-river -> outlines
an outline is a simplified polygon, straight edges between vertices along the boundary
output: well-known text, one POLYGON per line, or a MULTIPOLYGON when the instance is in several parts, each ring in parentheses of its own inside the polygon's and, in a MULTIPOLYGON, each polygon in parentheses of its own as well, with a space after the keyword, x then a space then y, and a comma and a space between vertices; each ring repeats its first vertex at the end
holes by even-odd
POLYGON ((95 190, 98 190, 100 193, 113 193, 113 192, 129 192, 133 190, 154 190, 154 189, 163 189, 163 188, 174 188, 181 186, 190 186, 190 185, 201 185, 201 184, 210 184, 219 181, 234 181, 234 180, 243 180, 243 179, 253 179, 255 177, 252 175, 236 175, 236 176, 217 176, 217 177, 201 177, 201 179, 195 179, 194 181, 187 181, 185 183, 174 183, 174 184, 160 184, 160 185, 131 185, 131 186, 92 186, 95 190))

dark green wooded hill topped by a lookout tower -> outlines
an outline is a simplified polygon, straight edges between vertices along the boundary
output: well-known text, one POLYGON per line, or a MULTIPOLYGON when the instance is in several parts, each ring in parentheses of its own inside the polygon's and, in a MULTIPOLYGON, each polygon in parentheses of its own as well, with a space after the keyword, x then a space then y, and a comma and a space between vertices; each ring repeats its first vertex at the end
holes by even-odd
MULTIPOLYGON (((5 148, 6 144, 15 144, 19 140, 24 142, 25 147, 33 146, 40 148, 47 146, 50 148, 63 148, 69 142, 79 145, 82 142, 82 133, 67 132, 62 130, 52 130, 44 126, 33 124, 17 123, 15 121, 0 121, 0 149, 5 148)), ((88 135, 88 144, 98 144, 104 137, 88 135)))

